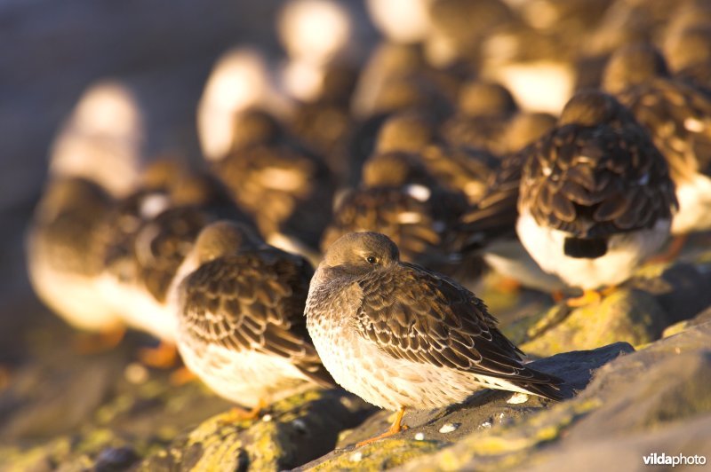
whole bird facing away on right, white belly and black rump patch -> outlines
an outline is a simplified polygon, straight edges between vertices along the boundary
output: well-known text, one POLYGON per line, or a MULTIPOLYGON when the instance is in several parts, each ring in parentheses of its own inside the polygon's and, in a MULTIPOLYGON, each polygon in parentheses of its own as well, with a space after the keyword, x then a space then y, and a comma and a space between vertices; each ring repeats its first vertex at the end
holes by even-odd
POLYGON ((667 163, 610 95, 579 92, 523 160, 516 231, 569 285, 619 284, 666 240, 677 206, 667 163))

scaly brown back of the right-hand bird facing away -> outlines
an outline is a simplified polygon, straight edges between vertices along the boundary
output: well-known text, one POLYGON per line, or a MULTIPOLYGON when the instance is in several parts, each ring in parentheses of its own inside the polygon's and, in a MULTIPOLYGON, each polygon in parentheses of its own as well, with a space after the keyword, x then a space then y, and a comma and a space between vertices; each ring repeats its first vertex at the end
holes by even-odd
POLYGON ((650 228, 676 206, 667 163, 635 125, 564 125, 529 148, 519 210, 582 238, 650 228))

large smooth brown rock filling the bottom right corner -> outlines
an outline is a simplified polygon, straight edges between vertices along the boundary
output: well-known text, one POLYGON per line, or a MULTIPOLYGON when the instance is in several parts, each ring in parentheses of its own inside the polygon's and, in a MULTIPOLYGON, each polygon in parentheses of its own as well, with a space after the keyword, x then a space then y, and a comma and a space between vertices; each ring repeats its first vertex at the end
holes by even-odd
POLYGON ((402 470, 629 469, 649 452, 707 452, 710 346, 711 322, 691 327, 598 369, 574 399, 474 432, 402 470))

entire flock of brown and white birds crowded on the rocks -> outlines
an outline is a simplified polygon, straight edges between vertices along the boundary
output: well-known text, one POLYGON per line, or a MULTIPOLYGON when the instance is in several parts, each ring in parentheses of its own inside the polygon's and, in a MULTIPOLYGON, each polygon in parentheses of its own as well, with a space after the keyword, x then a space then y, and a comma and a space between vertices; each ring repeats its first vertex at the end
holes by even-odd
POLYGON ((348 3, 295 0, 286 59, 221 58, 203 169, 141 163, 128 92, 90 90, 28 232, 44 303, 177 345, 252 413, 338 383, 399 411, 380 437, 479 387, 563 398, 462 284, 488 267, 593 303, 711 229, 711 2, 367 7, 380 43, 348 3))

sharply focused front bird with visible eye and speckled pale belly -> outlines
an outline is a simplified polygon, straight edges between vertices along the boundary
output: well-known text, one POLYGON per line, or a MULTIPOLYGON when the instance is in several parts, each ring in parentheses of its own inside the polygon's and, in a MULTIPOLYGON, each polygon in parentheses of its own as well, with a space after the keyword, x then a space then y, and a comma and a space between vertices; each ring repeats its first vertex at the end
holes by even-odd
POLYGON ((373 405, 434 408, 482 386, 562 397, 562 381, 523 366, 481 300, 401 262, 379 233, 333 243, 312 279, 306 315, 324 366, 373 405))

